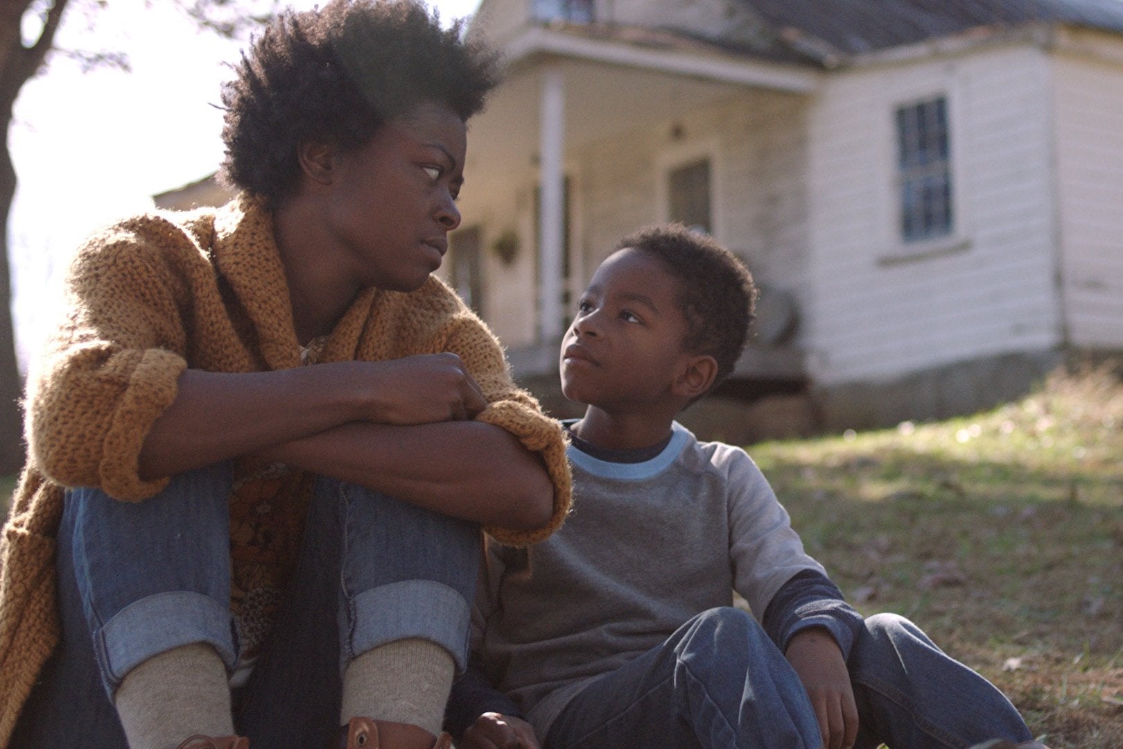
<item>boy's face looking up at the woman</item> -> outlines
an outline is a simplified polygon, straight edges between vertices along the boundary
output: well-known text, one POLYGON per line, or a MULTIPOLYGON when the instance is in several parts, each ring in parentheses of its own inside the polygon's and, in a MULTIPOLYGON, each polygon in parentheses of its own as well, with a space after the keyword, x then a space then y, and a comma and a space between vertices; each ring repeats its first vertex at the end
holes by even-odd
POLYGON ((610 411, 672 405, 672 387, 691 358, 679 284, 650 253, 610 255, 562 339, 565 396, 610 411))

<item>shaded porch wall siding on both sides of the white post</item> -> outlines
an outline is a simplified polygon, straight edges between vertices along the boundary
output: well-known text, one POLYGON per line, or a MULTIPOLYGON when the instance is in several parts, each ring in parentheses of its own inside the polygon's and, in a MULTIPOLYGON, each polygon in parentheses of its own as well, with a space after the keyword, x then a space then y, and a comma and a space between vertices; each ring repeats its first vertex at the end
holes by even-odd
MULTIPOLYGON (((660 181, 667 168, 712 154, 714 235, 745 258, 758 280, 783 286, 805 303, 807 106, 805 97, 746 90, 686 116, 648 121, 573 149, 565 166, 574 191, 572 290, 579 293, 621 236, 664 218, 660 181)), ((485 247, 503 227, 518 227, 524 247, 537 245, 536 179, 528 170, 509 193, 490 194, 485 204, 473 198, 466 205, 468 223, 484 227, 485 247)), ((484 317, 510 347, 536 340, 533 263, 530 252, 510 267, 486 257, 484 317)))

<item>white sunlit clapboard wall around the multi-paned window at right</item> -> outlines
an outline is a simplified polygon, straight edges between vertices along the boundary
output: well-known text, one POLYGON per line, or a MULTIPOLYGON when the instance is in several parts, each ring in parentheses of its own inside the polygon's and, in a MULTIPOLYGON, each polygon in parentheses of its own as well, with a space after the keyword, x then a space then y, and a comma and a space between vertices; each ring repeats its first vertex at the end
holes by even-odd
POLYGON ((1048 56, 1011 46, 844 72, 810 115, 809 369, 891 382, 1060 340, 1048 56), (916 253, 897 222, 894 111, 947 95, 956 228, 916 253))

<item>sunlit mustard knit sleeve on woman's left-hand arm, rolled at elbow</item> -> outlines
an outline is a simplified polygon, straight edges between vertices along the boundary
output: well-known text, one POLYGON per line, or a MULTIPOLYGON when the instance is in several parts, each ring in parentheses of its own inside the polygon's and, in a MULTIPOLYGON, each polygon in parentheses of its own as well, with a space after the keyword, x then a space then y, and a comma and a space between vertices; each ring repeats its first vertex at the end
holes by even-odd
POLYGON ((28 445, 44 474, 129 501, 167 482, 141 479, 138 456, 186 367, 177 283, 153 246, 190 249, 190 240, 171 225, 143 226, 108 229, 80 250, 67 277, 65 319, 36 365, 27 399, 28 445))

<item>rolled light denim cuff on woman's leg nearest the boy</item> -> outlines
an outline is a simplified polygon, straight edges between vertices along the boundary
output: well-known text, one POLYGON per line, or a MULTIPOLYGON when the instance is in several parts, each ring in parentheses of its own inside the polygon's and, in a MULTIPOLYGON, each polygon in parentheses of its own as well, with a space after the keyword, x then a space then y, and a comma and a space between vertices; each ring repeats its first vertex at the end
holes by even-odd
POLYGON ((363 591, 348 602, 348 615, 340 673, 367 650, 416 637, 448 650, 457 674, 467 668, 472 610, 463 595, 444 583, 407 579, 363 591))

